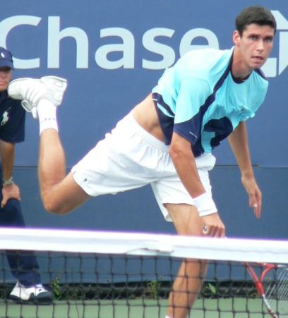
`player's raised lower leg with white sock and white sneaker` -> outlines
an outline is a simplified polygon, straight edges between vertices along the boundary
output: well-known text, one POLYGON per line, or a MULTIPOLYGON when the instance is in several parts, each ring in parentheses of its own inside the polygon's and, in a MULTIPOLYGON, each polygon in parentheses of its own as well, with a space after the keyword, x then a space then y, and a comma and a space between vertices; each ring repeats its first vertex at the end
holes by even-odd
POLYGON ((66 176, 66 159, 56 119, 56 106, 61 104, 66 86, 63 78, 46 76, 40 80, 20 78, 8 87, 8 94, 23 100, 25 109, 39 118, 40 192, 45 209, 57 214, 66 214, 89 198, 71 174, 66 176))

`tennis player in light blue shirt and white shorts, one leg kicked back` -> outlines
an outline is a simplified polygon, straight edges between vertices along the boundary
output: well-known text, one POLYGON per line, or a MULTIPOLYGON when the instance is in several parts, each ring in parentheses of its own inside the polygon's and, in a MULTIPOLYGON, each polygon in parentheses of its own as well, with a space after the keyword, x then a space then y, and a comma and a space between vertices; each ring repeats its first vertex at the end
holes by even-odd
MULTIPOLYGON (((260 217, 261 192, 251 166, 246 120, 265 99, 260 71, 276 32, 267 8, 251 6, 236 18, 234 46, 188 52, 168 68, 151 94, 125 116, 68 176, 56 106, 66 80, 18 79, 8 92, 40 121, 39 178, 47 211, 67 214, 108 193, 152 185, 167 221, 184 236, 224 237, 208 176, 212 149, 229 136, 249 205, 260 217)), ((167 317, 184 318, 197 298, 207 264, 185 260, 169 296, 167 317)))

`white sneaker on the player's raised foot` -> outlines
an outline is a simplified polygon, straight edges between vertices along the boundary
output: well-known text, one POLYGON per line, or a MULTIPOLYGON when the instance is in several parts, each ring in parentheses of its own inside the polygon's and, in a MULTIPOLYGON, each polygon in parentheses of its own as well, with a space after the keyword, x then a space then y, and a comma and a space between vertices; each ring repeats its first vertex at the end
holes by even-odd
POLYGON ((37 118, 36 106, 40 99, 48 99, 55 106, 62 102, 67 81, 57 76, 43 76, 40 79, 18 78, 8 86, 8 95, 13 99, 22 100, 25 111, 31 112, 37 118))

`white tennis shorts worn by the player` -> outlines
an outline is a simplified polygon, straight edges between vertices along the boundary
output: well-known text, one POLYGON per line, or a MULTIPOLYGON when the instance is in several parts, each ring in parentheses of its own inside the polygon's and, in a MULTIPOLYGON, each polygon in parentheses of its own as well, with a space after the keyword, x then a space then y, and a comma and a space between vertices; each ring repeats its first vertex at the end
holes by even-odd
MULTIPOLYGON (((73 166, 73 178, 91 197, 150 184, 164 218, 172 221, 164 204, 193 205, 193 198, 181 183, 168 151, 169 146, 138 125, 130 113, 73 166)), ((196 158, 200 179, 210 195, 208 171, 214 165, 212 154, 196 158)))

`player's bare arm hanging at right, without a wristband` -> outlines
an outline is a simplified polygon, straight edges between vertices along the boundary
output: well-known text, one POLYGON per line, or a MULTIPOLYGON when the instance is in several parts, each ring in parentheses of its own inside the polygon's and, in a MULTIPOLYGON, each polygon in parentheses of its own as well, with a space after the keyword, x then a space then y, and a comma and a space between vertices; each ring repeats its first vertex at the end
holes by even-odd
POLYGON ((251 164, 246 123, 241 121, 236 129, 228 137, 230 147, 241 171, 241 181, 249 197, 249 206, 253 207, 256 217, 259 219, 262 206, 262 194, 256 183, 251 164))

